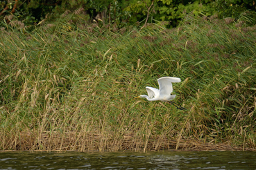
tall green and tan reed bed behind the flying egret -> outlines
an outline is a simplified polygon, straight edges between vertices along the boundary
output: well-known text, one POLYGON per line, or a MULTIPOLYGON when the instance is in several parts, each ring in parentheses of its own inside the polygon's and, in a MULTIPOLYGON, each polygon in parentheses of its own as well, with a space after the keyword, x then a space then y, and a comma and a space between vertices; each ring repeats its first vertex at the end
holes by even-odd
POLYGON ((256 26, 187 17, 120 30, 74 17, 1 28, 1 150, 256 148, 256 26), (164 76, 182 79, 174 101, 187 110, 134 99, 164 76))

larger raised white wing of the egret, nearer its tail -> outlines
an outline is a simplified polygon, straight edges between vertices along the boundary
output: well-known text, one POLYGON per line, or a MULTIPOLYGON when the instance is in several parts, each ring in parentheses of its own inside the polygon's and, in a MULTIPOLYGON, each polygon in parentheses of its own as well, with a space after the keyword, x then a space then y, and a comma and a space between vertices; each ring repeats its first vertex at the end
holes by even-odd
POLYGON ((157 79, 159 84, 160 95, 170 95, 173 92, 173 83, 181 82, 180 78, 178 77, 161 77, 157 79))

